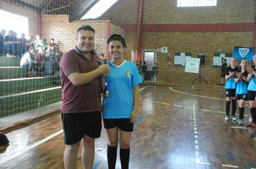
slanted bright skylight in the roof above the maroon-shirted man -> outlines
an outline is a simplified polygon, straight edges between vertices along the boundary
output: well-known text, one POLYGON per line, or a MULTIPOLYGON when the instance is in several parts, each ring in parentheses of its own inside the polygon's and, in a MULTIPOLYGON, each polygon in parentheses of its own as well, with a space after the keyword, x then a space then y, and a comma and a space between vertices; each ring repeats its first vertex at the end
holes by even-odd
POLYGON ((80 20, 83 19, 96 19, 101 14, 104 14, 117 0, 100 0, 95 4, 80 20))

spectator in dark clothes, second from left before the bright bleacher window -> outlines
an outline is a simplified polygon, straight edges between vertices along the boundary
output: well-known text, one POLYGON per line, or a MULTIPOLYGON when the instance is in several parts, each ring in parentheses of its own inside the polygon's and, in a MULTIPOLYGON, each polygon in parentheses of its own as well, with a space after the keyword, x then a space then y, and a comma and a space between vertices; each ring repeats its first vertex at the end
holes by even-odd
POLYGON ((4 37, 4 49, 6 57, 14 57, 14 32, 9 30, 9 34, 4 37))

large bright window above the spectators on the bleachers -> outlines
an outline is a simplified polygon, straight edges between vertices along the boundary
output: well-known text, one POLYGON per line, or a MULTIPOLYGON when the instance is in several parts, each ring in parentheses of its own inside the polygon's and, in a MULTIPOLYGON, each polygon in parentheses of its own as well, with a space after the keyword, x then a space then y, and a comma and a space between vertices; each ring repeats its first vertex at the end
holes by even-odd
POLYGON ((9 30, 17 32, 17 37, 21 37, 21 34, 24 33, 25 37, 29 37, 29 19, 25 16, 18 14, 13 14, 8 11, 3 11, 0 9, 0 29, 5 29, 6 34, 9 30))

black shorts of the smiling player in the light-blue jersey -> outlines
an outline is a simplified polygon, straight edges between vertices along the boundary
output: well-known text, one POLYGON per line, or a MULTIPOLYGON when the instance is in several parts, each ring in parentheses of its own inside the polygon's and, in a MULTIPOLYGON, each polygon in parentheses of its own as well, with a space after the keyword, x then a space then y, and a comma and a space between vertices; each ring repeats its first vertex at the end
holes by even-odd
POLYGON ((104 127, 106 129, 118 127, 120 130, 124 132, 132 132, 133 131, 133 123, 129 122, 128 119, 103 119, 104 127))

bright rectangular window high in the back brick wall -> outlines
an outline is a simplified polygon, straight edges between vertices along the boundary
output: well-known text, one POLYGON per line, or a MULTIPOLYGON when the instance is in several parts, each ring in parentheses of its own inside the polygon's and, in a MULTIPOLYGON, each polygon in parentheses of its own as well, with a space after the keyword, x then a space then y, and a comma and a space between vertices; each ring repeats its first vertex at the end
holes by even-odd
POLYGON ((177 0, 178 7, 186 6, 216 6, 217 0, 177 0))

